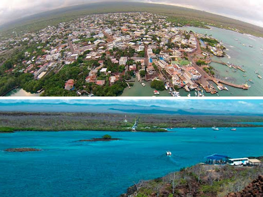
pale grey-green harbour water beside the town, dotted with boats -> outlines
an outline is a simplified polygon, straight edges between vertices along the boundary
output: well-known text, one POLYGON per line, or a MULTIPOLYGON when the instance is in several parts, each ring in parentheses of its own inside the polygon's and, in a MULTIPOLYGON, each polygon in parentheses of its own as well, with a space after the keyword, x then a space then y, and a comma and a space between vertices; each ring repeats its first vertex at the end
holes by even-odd
MULTIPOLYGON (((215 68, 215 76, 222 80, 229 81, 235 84, 245 84, 247 80, 253 80, 254 84, 248 82, 251 86, 249 90, 242 90, 238 88, 229 87, 229 91, 220 91, 220 96, 262 96, 263 95, 263 79, 257 77, 258 73, 263 75, 263 38, 258 38, 251 35, 245 35, 234 31, 219 29, 211 27, 208 29, 201 29, 196 27, 183 27, 186 30, 192 30, 194 32, 212 35, 219 42, 222 41, 223 45, 227 48, 226 57, 213 57, 213 60, 233 63, 246 70, 245 74, 247 77, 243 77, 243 72, 237 70, 233 72, 232 69, 227 66, 223 66, 217 63, 211 63, 211 66, 215 68), (238 39, 238 41, 235 41, 238 39), (241 43, 241 44, 240 44, 241 43), (245 44, 246 46, 243 46, 245 44), (252 45, 253 48, 249 47, 252 45), (226 78, 227 77, 227 78, 226 78), (234 94, 231 94, 234 93, 234 94)), ((263 76, 262 76, 263 77, 263 76)), ((215 86, 216 87, 216 86, 215 86)), ((183 94, 182 94, 183 95, 183 94)), ((206 96, 212 96, 210 93, 205 94, 206 96)), ((214 95, 216 96, 216 95, 214 95)))

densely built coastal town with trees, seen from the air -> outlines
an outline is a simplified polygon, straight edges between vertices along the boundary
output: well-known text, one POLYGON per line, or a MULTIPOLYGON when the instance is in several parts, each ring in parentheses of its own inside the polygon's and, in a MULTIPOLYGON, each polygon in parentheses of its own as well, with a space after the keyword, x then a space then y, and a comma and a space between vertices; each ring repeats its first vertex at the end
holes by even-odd
POLYGON ((228 90, 224 85, 249 89, 214 76, 211 57, 226 55, 220 42, 178 25, 146 12, 109 13, 34 33, 13 32, 0 43, 0 74, 21 81, 0 93, 22 86, 43 96, 118 96, 135 88, 134 82, 145 87, 148 81, 153 96, 165 89, 171 96, 180 96, 180 88, 195 90, 196 96, 228 90), (18 54, 4 58, 17 49, 18 54))

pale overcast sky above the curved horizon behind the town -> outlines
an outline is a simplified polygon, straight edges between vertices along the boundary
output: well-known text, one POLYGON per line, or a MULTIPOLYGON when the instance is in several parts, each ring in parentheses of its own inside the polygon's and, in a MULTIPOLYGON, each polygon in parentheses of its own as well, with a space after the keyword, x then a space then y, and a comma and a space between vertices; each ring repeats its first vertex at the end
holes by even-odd
MULTIPOLYGON (((0 25, 35 13, 106 0, 1 0, 0 25)), ((117 0, 118 1, 118 0, 117 0)), ((183 6, 239 19, 263 27, 262 0, 119 0, 183 6)))

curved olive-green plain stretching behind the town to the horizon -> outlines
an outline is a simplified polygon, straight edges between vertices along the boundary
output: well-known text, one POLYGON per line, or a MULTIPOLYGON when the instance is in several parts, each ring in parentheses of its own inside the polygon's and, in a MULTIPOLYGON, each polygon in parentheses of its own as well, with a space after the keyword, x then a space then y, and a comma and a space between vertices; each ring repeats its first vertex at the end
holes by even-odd
POLYGON ((168 21, 176 24, 179 23, 180 25, 191 25, 202 28, 207 28, 206 26, 210 25, 263 37, 263 28, 229 17, 178 6, 134 2, 92 3, 51 10, 2 25, 0 26, 0 30, 3 37, 8 36, 14 30, 17 32, 35 31, 49 25, 54 26, 62 22, 68 22, 88 14, 111 12, 158 13, 167 16, 168 21))

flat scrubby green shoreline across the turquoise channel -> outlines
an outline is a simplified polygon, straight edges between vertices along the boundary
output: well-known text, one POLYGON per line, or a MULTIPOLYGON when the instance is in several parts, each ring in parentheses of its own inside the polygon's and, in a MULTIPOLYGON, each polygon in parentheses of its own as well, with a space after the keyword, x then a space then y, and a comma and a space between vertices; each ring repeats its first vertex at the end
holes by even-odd
POLYGON ((63 131, 107 130, 131 131, 136 118, 137 131, 165 131, 170 127, 253 127, 256 125, 237 122, 263 122, 263 117, 229 115, 153 115, 129 113, 123 123, 123 114, 112 113, 30 113, 0 112, 0 132, 17 130, 63 131))

